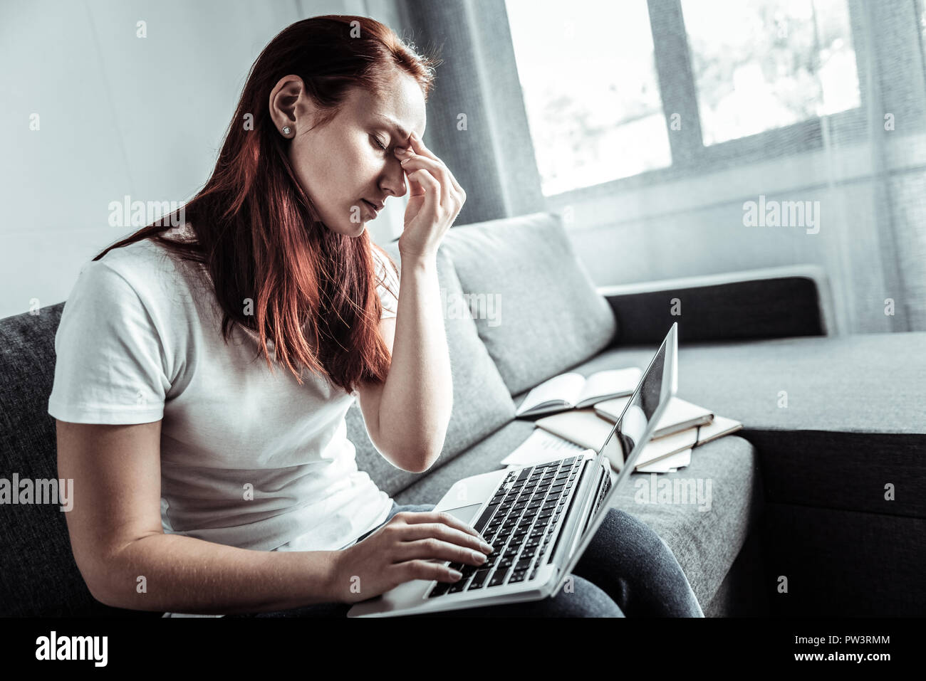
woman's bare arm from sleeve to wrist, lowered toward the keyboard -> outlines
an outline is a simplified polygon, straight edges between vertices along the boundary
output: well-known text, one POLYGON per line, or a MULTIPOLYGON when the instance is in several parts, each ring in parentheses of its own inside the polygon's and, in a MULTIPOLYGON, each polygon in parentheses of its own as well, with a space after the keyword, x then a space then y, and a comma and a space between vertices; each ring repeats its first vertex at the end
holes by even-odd
POLYGON ((160 432, 160 421, 57 421, 58 477, 74 481, 74 505, 67 512, 71 548, 97 601, 213 614, 338 600, 332 588, 338 551, 249 551, 164 534, 160 432))

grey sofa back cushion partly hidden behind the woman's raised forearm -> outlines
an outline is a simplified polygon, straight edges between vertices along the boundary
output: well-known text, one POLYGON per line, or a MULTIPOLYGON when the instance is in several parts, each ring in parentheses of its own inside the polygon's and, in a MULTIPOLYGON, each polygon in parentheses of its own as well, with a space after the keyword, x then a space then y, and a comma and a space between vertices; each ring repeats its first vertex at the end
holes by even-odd
MULTIPOLYGON (((401 268, 397 243, 383 248, 401 268)), ((437 254, 437 271, 442 297, 445 294, 446 300, 457 300, 462 293, 459 279, 449 255, 441 251, 437 254)), ((454 383, 453 414, 441 452, 441 459, 447 461, 510 421, 514 417, 514 402, 479 340, 473 320, 447 314, 444 309, 444 332, 454 383)), ((357 467, 366 471, 380 489, 394 495, 420 477, 421 474, 396 468, 376 450, 369 440, 358 402, 347 411, 346 421, 347 437, 357 449, 357 467)))

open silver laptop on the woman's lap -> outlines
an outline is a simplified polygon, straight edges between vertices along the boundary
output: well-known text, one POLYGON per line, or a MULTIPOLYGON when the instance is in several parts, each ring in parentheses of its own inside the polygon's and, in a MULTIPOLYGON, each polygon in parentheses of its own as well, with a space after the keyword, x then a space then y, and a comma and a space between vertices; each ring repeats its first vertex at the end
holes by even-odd
MULTIPOLYGON (((356 603, 348 617, 389 617, 539 601, 563 587, 630 476, 678 388, 678 324, 672 324, 598 452, 484 473, 457 481, 434 511, 475 527, 494 551, 482 565, 449 563, 457 582, 415 579, 356 603), (605 452, 625 453, 619 474, 605 452), (627 452, 630 452, 629 454, 627 452)), ((558 455, 557 455, 558 456, 558 455)))

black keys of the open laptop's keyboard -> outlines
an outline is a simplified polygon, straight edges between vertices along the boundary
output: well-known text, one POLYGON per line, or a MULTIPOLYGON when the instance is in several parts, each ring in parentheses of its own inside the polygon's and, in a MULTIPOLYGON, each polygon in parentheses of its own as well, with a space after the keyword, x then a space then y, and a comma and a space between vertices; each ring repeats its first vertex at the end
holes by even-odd
POLYGON ((482 565, 450 563, 463 576, 453 583, 437 582, 428 598, 532 579, 569 502, 582 461, 581 456, 571 456, 510 471, 473 525, 494 551, 482 565))

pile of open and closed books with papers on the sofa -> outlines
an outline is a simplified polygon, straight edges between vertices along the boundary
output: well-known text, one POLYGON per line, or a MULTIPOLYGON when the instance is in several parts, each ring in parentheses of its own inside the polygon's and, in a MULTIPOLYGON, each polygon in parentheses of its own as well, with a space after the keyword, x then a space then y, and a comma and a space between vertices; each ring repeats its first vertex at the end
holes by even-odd
MULTIPOLYGON (((544 381, 528 393, 516 416, 545 416, 537 419, 537 429, 531 437, 502 464, 530 465, 573 451, 597 452, 618 422, 642 375, 641 369, 633 366, 599 371, 588 378, 569 373, 544 381)), ((640 452, 634 470, 641 473, 678 470, 691 463, 695 447, 742 427, 738 421, 673 397, 652 439, 640 452)), ((605 454, 611 467, 619 471, 630 452, 621 450, 619 438, 611 438, 605 454)))

